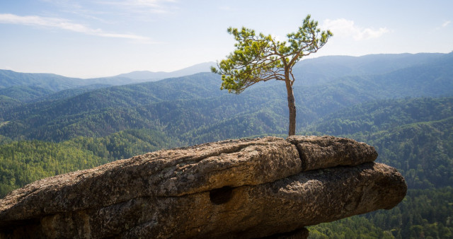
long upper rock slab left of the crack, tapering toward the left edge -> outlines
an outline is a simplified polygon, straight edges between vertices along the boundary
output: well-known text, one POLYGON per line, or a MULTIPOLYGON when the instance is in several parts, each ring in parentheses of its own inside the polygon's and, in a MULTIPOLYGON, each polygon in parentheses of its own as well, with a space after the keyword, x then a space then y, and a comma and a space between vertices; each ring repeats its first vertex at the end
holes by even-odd
POLYGON ((295 146, 276 137, 156 151, 33 182, 1 201, 0 218, 34 218, 43 212, 108 206, 135 197, 180 196, 224 186, 258 185, 301 169, 295 146))

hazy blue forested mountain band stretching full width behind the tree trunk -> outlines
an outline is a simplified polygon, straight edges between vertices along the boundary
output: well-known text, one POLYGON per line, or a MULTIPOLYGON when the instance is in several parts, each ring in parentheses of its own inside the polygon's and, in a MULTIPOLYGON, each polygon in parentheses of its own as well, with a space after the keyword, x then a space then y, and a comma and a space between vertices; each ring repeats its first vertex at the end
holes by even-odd
MULTIPOLYGON (((343 76, 321 85, 295 86, 298 130, 358 103, 453 96, 452 69, 453 57, 447 54, 385 74, 343 76)), ((281 83, 258 83, 240 95, 231 95, 219 91, 220 76, 201 73, 101 88, 0 111, 0 117, 8 122, 0 127, 0 134, 11 139, 62 141, 75 136, 107 136, 125 129, 154 129, 189 144, 251 134, 285 134, 287 105, 281 83)))

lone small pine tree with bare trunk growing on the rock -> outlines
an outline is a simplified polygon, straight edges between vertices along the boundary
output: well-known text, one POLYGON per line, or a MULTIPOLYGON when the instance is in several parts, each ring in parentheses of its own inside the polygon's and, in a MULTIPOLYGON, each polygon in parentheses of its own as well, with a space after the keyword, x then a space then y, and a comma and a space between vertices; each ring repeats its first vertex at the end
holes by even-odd
POLYGON ((333 36, 330 30, 321 31, 318 22, 306 16, 296 33, 287 35, 287 42, 255 30, 228 28, 237 41, 236 49, 226 59, 212 66, 211 71, 222 75, 222 86, 229 93, 239 94, 260 81, 285 81, 289 108, 289 135, 296 133, 296 105, 292 85, 296 80, 292 66, 302 57, 317 52, 333 36))

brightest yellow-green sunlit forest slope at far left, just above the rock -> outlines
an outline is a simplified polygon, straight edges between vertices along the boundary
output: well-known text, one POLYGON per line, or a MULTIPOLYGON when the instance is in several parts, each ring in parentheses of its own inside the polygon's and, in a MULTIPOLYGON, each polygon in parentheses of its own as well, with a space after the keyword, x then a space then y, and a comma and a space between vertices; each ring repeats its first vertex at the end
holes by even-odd
POLYGON ((69 143, 15 141, 0 146, 0 196, 44 177, 93 168, 105 159, 69 143))

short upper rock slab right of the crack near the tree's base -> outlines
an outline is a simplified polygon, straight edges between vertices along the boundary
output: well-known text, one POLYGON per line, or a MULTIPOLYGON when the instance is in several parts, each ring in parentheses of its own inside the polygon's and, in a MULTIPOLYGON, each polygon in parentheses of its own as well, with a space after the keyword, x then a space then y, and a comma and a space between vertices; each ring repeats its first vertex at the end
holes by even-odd
POLYGON ((287 141, 297 146, 302 170, 355 166, 373 162, 377 152, 373 146, 352 139, 334 136, 289 136, 287 141))

